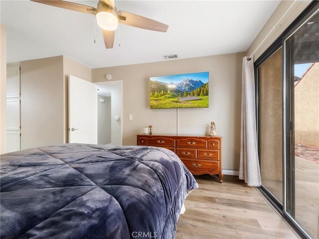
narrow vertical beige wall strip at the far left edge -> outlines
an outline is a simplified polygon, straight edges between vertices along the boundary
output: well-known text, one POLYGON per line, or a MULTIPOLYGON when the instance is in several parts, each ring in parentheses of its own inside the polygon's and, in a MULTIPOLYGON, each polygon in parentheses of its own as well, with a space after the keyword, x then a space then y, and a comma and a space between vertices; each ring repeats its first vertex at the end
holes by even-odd
POLYGON ((0 154, 6 152, 6 26, 0 24, 0 154))

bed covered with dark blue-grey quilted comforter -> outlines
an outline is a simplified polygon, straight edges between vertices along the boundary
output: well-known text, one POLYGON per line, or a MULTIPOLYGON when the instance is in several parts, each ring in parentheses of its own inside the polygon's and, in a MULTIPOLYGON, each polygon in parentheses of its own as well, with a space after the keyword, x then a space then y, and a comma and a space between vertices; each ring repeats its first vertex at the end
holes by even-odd
POLYGON ((60 144, 0 162, 1 239, 173 239, 198 187, 158 147, 60 144))

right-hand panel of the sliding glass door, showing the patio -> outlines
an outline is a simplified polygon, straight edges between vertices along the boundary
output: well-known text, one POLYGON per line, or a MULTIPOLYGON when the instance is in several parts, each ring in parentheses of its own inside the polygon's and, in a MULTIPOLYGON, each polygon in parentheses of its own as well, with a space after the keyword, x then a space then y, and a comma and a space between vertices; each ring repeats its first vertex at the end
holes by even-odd
POLYGON ((319 10, 288 35, 286 86, 290 128, 285 213, 311 238, 319 227, 319 10), (289 166, 289 167, 288 167, 289 166))

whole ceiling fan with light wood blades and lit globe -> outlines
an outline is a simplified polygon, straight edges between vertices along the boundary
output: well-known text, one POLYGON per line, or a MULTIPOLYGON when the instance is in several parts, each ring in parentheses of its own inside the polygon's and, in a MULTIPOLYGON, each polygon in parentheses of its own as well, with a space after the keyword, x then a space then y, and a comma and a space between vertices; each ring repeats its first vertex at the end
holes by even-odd
POLYGON ((115 0, 99 0, 96 8, 93 6, 87 6, 63 0, 31 1, 83 13, 94 14, 98 25, 102 28, 103 39, 106 48, 113 48, 114 31, 117 29, 119 23, 161 32, 166 32, 168 28, 168 25, 159 21, 127 11, 118 11, 115 6, 115 0))

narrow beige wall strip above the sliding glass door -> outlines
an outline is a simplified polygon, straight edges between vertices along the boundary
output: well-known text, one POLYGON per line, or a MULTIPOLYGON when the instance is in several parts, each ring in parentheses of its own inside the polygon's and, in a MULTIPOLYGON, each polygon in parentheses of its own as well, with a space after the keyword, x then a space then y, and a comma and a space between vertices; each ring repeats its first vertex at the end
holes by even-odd
POLYGON ((246 56, 251 56, 257 49, 254 54, 255 60, 257 60, 257 58, 260 57, 261 54, 283 33, 310 2, 311 0, 282 0, 248 48, 246 56), (289 11, 287 12, 287 10, 289 11), (263 41, 265 38, 266 40, 263 41))

